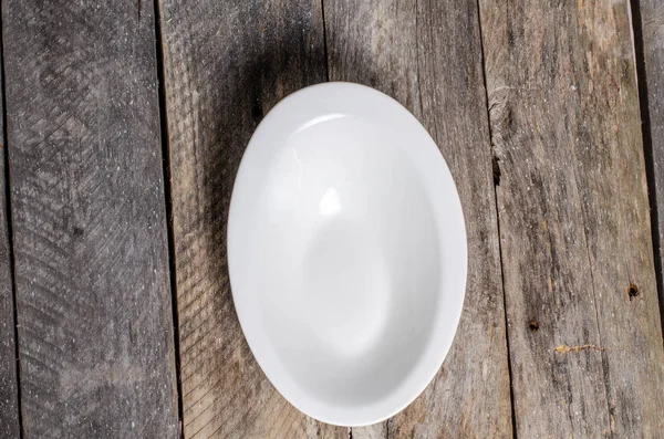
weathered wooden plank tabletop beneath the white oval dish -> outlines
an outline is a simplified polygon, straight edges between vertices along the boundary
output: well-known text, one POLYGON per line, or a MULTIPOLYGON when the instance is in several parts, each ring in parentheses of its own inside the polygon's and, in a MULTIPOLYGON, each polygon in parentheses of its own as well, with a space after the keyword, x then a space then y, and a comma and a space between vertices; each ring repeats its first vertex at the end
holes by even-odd
POLYGON ((664 2, 1 7, 0 437, 664 433, 664 2), (323 81, 422 121, 468 229, 453 349, 367 428, 274 390, 226 266, 252 130, 323 81))

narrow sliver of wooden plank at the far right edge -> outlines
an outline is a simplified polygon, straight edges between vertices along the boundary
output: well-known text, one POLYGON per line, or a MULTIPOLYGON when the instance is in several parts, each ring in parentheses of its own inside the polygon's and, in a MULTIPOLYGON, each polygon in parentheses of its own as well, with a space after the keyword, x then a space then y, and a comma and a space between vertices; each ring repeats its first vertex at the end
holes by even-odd
MULTIPOLYGON (((655 199, 652 212, 656 218, 654 230, 655 251, 658 254, 656 270, 660 282, 664 272, 664 3, 657 0, 633 0, 634 29, 639 59, 639 87, 642 119, 644 121, 644 146, 651 159, 650 190, 655 199)), ((660 285, 660 311, 664 322, 664 286, 660 285)))

